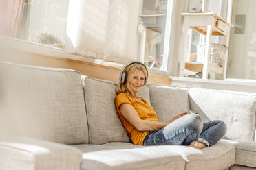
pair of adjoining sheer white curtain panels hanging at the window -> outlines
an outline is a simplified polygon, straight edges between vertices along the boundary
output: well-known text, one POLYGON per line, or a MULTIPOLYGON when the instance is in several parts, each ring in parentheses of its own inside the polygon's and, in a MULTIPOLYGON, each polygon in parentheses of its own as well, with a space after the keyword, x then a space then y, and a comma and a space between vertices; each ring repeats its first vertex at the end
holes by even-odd
POLYGON ((137 60, 138 0, 72 0, 65 51, 125 63, 137 60))

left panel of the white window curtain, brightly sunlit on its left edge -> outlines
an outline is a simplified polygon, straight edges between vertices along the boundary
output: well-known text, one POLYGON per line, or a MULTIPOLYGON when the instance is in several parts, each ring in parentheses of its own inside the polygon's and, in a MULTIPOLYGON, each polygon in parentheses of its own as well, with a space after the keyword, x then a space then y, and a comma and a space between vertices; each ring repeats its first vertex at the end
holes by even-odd
POLYGON ((108 0, 72 0, 67 14, 65 51, 103 58, 108 0))

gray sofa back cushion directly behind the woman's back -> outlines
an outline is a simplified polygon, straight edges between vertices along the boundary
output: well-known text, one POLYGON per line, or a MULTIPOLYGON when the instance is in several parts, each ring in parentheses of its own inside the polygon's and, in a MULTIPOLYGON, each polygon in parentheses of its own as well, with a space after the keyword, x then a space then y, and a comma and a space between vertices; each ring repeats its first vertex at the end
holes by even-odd
MULTIPOLYGON (((125 128, 116 113, 117 83, 92 77, 82 77, 82 79, 90 143, 129 142, 125 128)), ((149 100, 149 88, 143 86, 138 95, 149 100)))

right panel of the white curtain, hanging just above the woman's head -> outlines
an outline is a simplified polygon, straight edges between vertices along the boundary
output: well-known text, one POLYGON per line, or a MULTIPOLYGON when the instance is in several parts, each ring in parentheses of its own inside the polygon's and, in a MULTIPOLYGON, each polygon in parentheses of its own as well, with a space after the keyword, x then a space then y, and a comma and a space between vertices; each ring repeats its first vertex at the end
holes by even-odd
POLYGON ((109 0, 105 61, 137 60, 138 0, 109 0))

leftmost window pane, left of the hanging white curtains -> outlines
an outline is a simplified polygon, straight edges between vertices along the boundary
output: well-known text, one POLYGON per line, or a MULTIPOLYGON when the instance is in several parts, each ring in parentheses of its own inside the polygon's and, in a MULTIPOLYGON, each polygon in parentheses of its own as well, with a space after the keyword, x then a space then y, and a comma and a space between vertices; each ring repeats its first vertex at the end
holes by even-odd
POLYGON ((68 0, 4 1, 0 10, 3 36, 63 48, 68 0))

